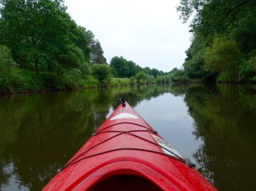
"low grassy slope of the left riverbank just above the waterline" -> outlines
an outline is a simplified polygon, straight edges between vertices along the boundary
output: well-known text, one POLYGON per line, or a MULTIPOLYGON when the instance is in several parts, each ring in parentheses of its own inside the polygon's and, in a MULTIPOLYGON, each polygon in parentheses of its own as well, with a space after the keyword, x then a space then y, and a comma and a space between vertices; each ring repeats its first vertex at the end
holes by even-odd
POLYGON ((157 83, 156 81, 137 80, 135 77, 109 78, 108 83, 100 83, 92 75, 86 75, 81 79, 65 76, 65 80, 63 80, 63 78, 60 79, 60 76, 50 75, 48 73, 36 74, 28 70, 19 70, 16 72, 16 77, 13 78, 11 83, 8 83, 7 80, 5 82, 7 83, 1 83, 0 85, 0 95, 26 95, 50 91, 71 91, 157 83))

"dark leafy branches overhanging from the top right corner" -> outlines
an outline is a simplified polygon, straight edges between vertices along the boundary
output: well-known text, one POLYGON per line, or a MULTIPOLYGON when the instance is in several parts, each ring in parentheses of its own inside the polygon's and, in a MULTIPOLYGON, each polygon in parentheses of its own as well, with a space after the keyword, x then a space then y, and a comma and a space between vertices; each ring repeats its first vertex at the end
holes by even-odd
POLYGON ((177 11, 186 23, 191 16, 192 32, 203 36, 209 41, 216 35, 227 35, 237 26, 237 23, 247 18, 249 14, 255 15, 256 2, 249 0, 212 1, 212 0, 180 0, 177 11))

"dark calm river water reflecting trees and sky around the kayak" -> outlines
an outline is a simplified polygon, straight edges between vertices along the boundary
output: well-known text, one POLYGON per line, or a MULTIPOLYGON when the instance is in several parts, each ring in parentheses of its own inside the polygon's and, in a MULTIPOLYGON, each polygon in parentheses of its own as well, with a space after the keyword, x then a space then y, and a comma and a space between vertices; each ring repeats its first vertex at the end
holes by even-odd
POLYGON ((0 190, 41 190, 119 97, 219 190, 256 189, 256 86, 154 85, 0 97, 0 190))

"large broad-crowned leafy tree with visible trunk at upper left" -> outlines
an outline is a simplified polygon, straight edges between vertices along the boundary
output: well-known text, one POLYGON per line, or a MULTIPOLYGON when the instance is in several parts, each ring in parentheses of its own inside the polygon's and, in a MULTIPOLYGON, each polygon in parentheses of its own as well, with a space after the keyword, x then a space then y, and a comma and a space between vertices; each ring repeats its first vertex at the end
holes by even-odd
POLYGON ((21 63, 40 64, 55 58, 67 41, 72 23, 62 0, 1 0, 4 44, 8 44, 21 63))

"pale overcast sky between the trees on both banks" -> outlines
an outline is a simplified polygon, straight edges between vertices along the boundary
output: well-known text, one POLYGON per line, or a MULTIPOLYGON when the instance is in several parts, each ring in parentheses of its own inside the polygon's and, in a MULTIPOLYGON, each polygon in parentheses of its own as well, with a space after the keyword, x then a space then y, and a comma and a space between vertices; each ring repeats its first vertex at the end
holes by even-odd
POLYGON ((191 34, 179 0, 65 0, 67 12, 94 33, 109 60, 123 56, 158 70, 181 68, 191 34))

